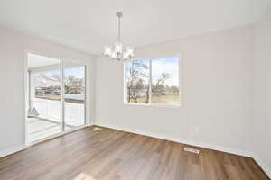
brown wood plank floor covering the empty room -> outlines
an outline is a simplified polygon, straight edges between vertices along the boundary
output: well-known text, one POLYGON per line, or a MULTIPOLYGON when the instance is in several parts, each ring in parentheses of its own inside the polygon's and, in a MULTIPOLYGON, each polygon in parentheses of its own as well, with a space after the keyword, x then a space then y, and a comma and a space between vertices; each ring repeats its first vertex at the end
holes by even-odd
MULTIPOLYGON (((100 127, 102 128, 102 127, 100 127)), ((268 180, 248 157, 93 127, 0 158, 0 180, 268 180), (184 147, 200 149, 192 154, 184 147)))

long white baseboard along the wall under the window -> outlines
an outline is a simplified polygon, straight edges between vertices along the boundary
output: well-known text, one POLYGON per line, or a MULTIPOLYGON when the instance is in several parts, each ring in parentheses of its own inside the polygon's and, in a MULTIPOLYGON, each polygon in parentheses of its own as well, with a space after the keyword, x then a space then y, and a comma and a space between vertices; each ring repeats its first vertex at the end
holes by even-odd
POLYGON ((114 129, 114 130, 123 130, 123 131, 127 131, 127 132, 132 132, 132 133, 135 133, 135 134, 140 134, 140 135, 144 135, 144 136, 148 136, 148 137, 170 140, 170 141, 179 142, 179 143, 182 143, 182 144, 187 144, 187 145, 192 145, 192 146, 197 146, 197 147, 201 147, 201 148, 209 148, 209 149, 212 149, 212 150, 227 152, 227 153, 230 153, 230 154, 236 154, 236 155, 243 156, 243 157, 252 157, 251 152, 247 152, 247 151, 240 150, 240 149, 234 149, 234 148, 226 148, 226 147, 222 147, 222 146, 218 146, 218 145, 212 145, 212 144, 208 144, 208 143, 204 143, 204 142, 197 142, 197 141, 194 141, 194 140, 191 140, 191 139, 173 138, 173 137, 154 134, 154 133, 151 133, 151 132, 145 132, 145 131, 141 131, 141 130, 129 130, 129 129, 126 129, 126 128, 121 128, 119 126, 112 125, 112 124, 107 124, 107 123, 103 123, 103 122, 96 122, 95 125, 110 128, 110 129, 114 129))

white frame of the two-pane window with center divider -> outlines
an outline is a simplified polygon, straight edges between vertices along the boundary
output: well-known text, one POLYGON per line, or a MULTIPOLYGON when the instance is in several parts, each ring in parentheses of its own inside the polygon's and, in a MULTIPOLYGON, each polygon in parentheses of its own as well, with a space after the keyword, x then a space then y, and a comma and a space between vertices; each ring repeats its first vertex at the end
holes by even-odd
POLYGON ((130 60, 126 60, 123 63, 123 84, 124 84, 124 90, 123 90, 123 102, 125 105, 135 105, 135 106, 149 106, 149 107, 173 107, 173 108, 179 108, 181 107, 181 55, 173 55, 173 56, 166 56, 164 58, 172 58, 172 57, 178 57, 178 76, 179 76, 179 100, 180 103, 179 104, 166 104, 166 103, 152 103, 152 62, 153 60, 157 59, 157 58, 135 58, 135 59, 130 59, 130 60), (149 77, 149 83, 151 83, 151 85, 149 85, 150 88, 150 94, 149 94, 149 103, 128 103, 127 102, 127 88, 126 88, 126 62, 130 62, 133 60, 141 60, 141 59, 148 59, 149 60, 149 67, 150 67, 150 77, 149 77))

